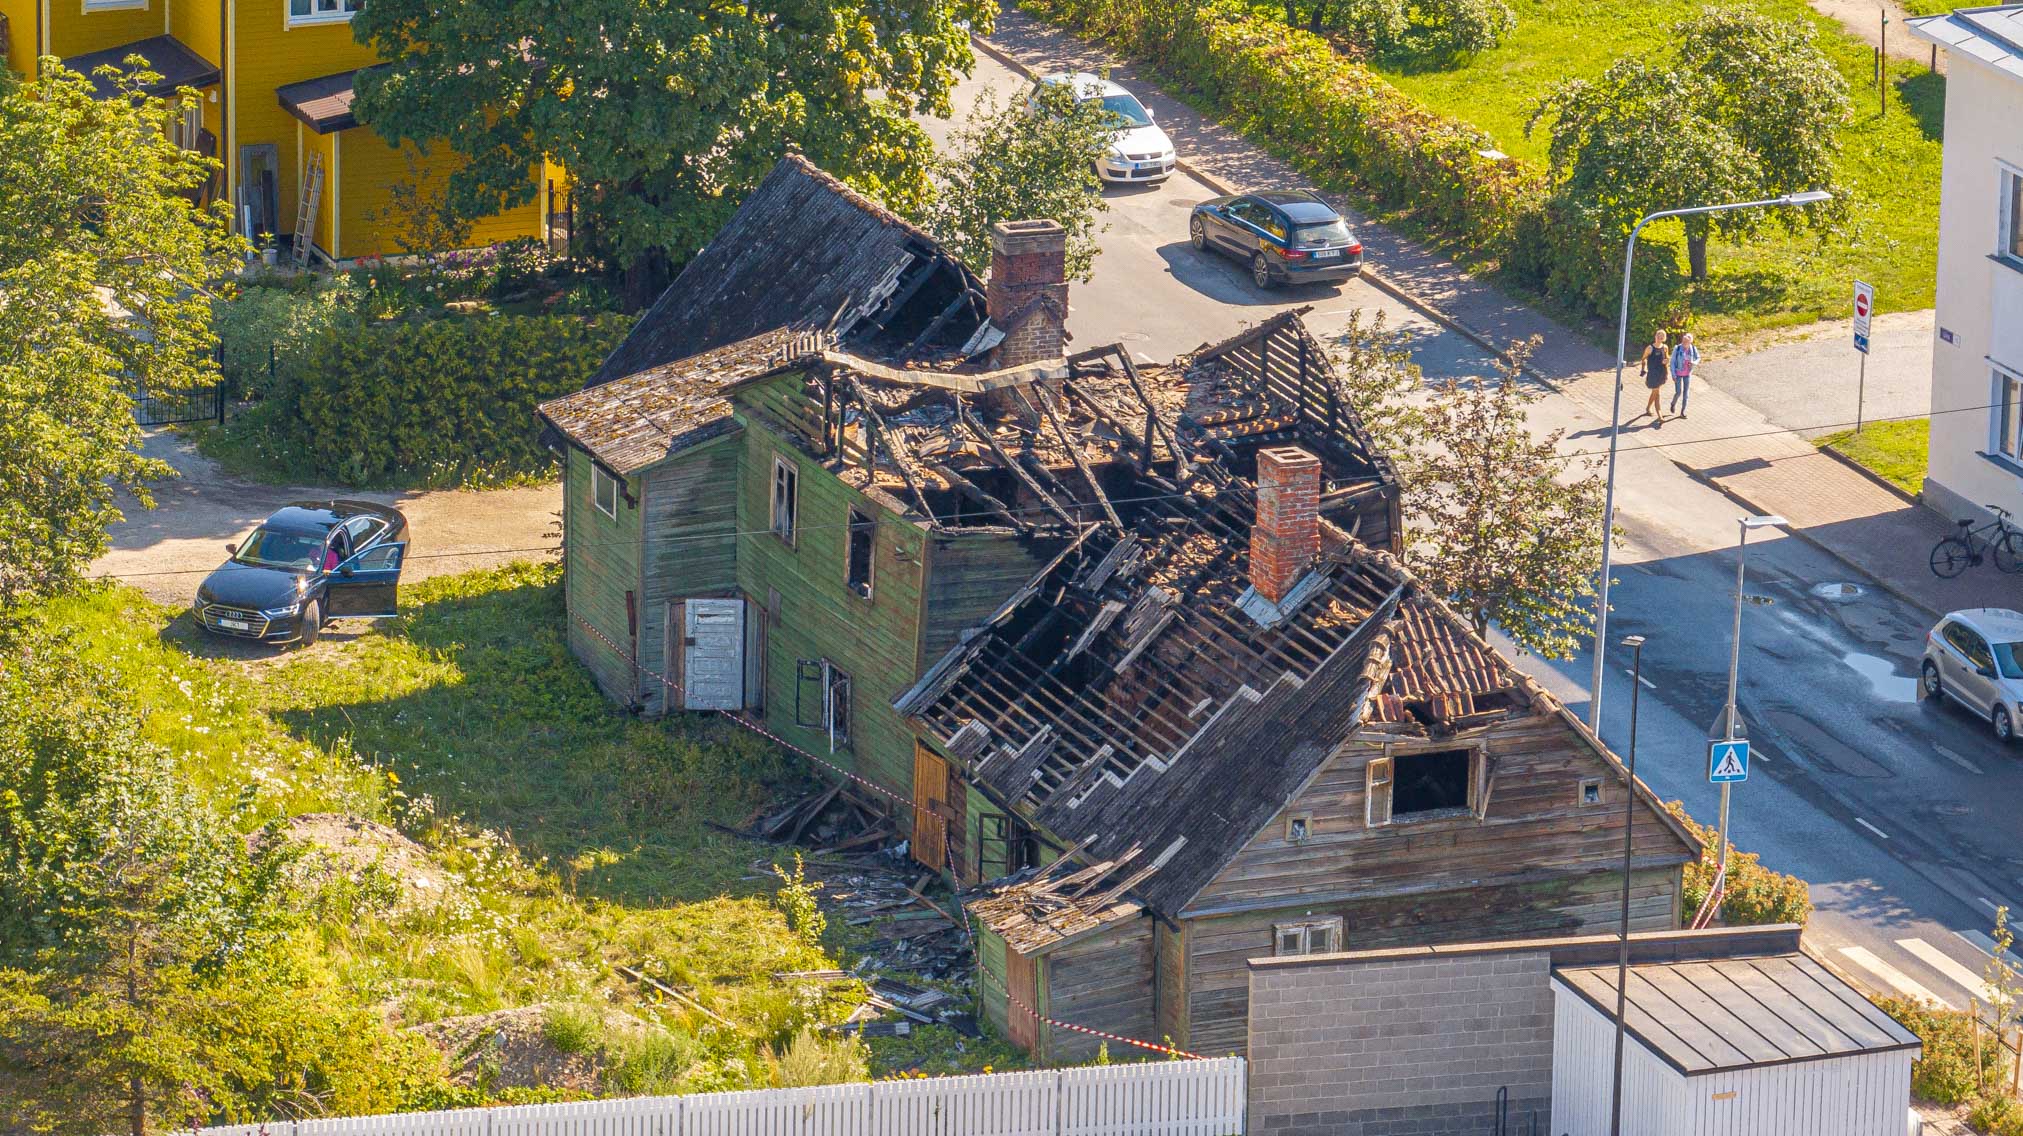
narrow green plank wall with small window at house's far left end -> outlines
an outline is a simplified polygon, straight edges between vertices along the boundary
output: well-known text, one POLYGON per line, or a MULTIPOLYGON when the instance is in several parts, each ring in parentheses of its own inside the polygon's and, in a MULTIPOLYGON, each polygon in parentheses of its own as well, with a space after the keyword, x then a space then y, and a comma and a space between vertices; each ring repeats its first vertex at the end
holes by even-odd
MULTIPOLYGON (((637 479, 631 479, 627 489, 637 497, 637 479)), ((613 643, 627 643, 625 592, 639 590, 639 509, 619 497, 617 513, 607 517, 597 509, 591 499, 591 455, 570 447, 562 473, 568 649, 591 669, 611 699, 629 703, 635 695, 631 665, 577 623, 587 621, 613 643)))

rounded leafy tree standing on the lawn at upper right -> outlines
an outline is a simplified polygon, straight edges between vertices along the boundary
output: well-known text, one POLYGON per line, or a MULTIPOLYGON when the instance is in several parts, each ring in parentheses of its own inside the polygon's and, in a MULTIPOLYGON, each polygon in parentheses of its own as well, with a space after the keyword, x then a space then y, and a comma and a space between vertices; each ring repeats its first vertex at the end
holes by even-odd
MULTIPOLYGON (((1847 83, 1809 24, 1707 8, 1673 28, 1669 61, 1620 59, 1562 83, 1525 131, 1550 131, 1560 216, 1618 241, 1663 208, 1833 188, 1847 109, 1847 83)), ((1827 230, 1845 206, 1685 218, 1693 279, 1707 277, 1709 234, 1740 241, 1772 218, 1827 230)))

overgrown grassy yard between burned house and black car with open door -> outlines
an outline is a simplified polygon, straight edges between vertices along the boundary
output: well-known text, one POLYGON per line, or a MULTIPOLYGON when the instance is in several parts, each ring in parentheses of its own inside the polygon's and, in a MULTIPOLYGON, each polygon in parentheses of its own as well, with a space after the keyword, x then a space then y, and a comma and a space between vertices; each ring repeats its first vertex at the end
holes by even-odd
MULTIPOLYGON (((57 600, 42 625, 245 829, 346 813, 421 841, 451 881, 443 902, 344 906, 310 948, 403 1023, 615 1003, 662 1017, 684 1047, 633 1092, 700 1092, 765 1087, 761 1045, 860 999, 850 982, 811 992, 771 978, 838 966, 868 928, 831 920, 819 946, 803 942, 779 881, 753 867, 785 849, 712 827, 742 827, 807 770, 720 718, 615 709, 566 649, 556 564, 403 588, 399 619, 340 625, 307 651, 210 639, 127 588, 57 600), (641 1003, 615 964, 698 990, 736 1029, 641 1003)), ((995 1043, 945 1041, 935 1069, 1018 1063, 995 1043)), ((872 1057, 920 1063, 908 1047, 872 1057)))

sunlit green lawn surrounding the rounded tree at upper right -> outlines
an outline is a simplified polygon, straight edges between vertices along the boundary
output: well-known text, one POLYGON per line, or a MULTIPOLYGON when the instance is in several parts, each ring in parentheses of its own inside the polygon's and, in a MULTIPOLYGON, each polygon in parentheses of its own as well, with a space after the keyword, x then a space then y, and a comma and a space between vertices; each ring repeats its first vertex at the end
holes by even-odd
MULTIPOLYGON (((1525 137, 1533 101, 1564 79, 1600 75, 1620 57, 1667 53, 1673 24, 1705 0, 1511 0, 1517 28, 1495 51, 1450 69, 1380 71, 1428 107, 1489 131, 1497 146, 1546 162, 1546 135, 1525 137)), ((1750 327, 1845 317, 1849 285, 1875 285, 1877 307, 1932 305, 1938 257, 1938 170, 1944 81, 1914 63, 1892 63, 1887 113, 1877 113, 1871 51, 1805 0, 1754 0, 1784 20, 1807 20, 1841 67, 1855 105, 1841 131, 1839 178, 1855 210, 1845 232, 1825 243, 1768 230, 1746 247, 1709 247, 1709 281, 1691 297, 1697 325, 1720 336, 1750 327)), ((1906 32, 1908 34, 1908 32, 1906 32)), ((1647 230, 1649 253, 1685 267, 1675 224, 1647 230)))

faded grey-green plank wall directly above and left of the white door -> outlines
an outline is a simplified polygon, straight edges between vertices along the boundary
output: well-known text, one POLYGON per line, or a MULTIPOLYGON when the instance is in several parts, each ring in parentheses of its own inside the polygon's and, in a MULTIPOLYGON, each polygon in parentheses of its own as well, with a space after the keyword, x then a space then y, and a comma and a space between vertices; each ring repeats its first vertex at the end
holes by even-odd
MULTIPOLYGON (((690 596, 730 596, 738 586, 738 457, 736 435, 702 443, 643 469, 639 511, 645 517, 639 602, 639 659, 659 671, 668 663, 668 604, 690 596)), ((623 596, 621 596, 623 602, 623 596)), ((641 681, 647 714, 664 714, 666 687, 641 681)), ((680 699, 676 699, 680 703, 680 699)), ((680 705, 676 705, 678 709, 680 705)))

